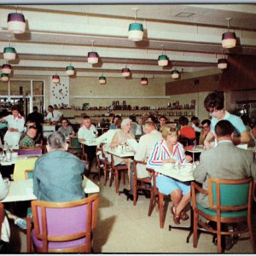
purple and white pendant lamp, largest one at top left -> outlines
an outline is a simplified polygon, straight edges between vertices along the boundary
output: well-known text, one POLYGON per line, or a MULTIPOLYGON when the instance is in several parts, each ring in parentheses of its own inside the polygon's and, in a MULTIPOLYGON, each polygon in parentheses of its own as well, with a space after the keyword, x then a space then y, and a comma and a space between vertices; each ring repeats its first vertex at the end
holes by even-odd
POLYGON ((22 34, 26 29, 25 17, 19 13, 11 13, 7 19, 8 31, 15 34, 22 34))

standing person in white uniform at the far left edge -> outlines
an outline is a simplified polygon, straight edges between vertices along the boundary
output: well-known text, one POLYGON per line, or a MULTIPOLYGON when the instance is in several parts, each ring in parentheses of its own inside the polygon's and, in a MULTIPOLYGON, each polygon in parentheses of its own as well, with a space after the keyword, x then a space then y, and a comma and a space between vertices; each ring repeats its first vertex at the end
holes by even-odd
POLYGON ((24 131, 25 119, 20 115, 17 106, 11 108, 12 114, 0 119, 0 122, 8 123, 8 131, 6 131, 3 141, 13 149, 19 149, 20 134, 24 131))

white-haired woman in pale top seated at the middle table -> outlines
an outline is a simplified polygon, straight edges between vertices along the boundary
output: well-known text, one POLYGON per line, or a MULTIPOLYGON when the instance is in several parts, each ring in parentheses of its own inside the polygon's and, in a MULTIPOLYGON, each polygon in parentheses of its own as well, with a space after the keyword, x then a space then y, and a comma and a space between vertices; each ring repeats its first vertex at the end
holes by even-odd
MULTIPOLYGON (((127 139, 135 138, 131 133, 131 119, 123 119, 121 123, 121 130, 118 131, 110 143, 110 148, 116 148, 119 145, 127 144, 127 139)), ((131 190, 130 179, 131 179, 131 158, 120 158, 117 156, 113 156, 113 164, 114 166, 118 165, 126 165, 128 168, 128 190, 131 190)))

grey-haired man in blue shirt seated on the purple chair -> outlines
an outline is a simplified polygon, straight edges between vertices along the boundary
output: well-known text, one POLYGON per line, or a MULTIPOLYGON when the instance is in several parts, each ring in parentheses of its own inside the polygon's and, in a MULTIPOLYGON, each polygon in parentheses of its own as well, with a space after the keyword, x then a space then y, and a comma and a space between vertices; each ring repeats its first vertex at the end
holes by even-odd
POLYGON ((48 138, 47 154, 35 164, 33 192, 41 201, 76 201, 84 198, 84 164, 67 153, 68 144, 60 131, 48 138))

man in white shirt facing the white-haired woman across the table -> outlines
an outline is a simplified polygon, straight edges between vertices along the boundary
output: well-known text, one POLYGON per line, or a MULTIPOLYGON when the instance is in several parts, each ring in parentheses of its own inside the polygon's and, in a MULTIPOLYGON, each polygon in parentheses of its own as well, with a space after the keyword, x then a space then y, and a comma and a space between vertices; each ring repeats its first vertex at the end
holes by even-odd
MULTIPOLYGON (((145 134, 140 137, 136 154, 134 155, 134 160, 147 162, 148 157, 154 148, 154 144, 162 139, 162 134, 160 131, 156 130, 156 125, 154 122, 147 121, 144 125, 145 134)), ((148 171, 146 170, 146 165, 137 164, 137 177, 143 178, 148 177, 148 171)), ((126 190, 126 189, 125 189, 126 190)), ((129 193, 129 197, 132 199, 133 195, 133 165, 131 165, 131 190, 126 190, 125 195, 129 193)))

